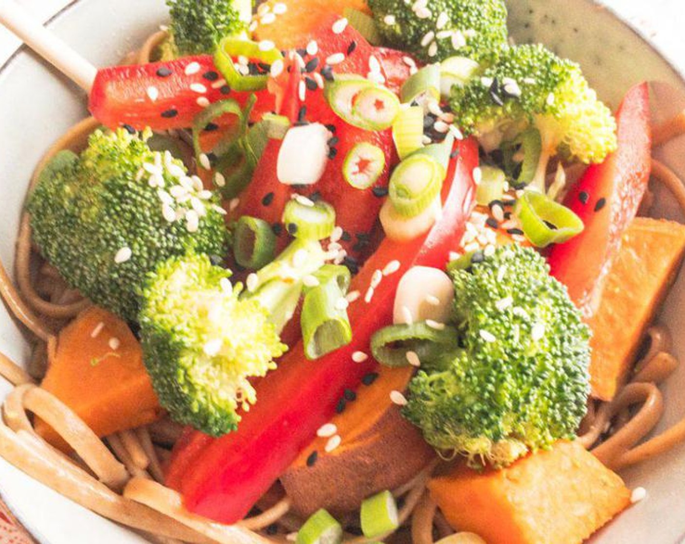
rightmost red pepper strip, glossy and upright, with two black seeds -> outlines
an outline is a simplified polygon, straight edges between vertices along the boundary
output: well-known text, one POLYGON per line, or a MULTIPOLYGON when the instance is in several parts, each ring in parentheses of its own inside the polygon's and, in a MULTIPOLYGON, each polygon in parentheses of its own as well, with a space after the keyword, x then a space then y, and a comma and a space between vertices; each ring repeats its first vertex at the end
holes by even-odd
POLYGON ((643 199, 651 172, 651 129, 647 83, 632 88, 616 113, 618 148, 590 166, 566 196, 567 207, 583 220, 584 231, 551 249, 556 279, 586 318, 595 312, 621 236, 643 199))

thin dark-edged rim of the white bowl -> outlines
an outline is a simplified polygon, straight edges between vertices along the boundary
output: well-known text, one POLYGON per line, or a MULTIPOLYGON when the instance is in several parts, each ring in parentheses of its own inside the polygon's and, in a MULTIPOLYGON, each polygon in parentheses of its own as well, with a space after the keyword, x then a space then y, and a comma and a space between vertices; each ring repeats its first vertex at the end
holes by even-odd
MULTIPOLYGON (((85 1, 88 1, 88 0, 69 0, 65 5, 62 6, 62 8, 58 9, 55 13, 53 13, 51 16, 49 16, 49 18, 47 18, 43 22, 43 25, 47 28, 50 28, 53 25, 53 23, 60 21, 60 19, 63 16, 67 16, 69 14, 69 12, 71 12, 71 10, 73 8, 75 8, 76 5, 83 3, 85 1)), ((162 0, 160 0, 160 1, 162 1, 162 0)), ((517 0, 505 0, 506 3, 516 2, 516 1, 517 0)), ((582 2, 582 3, 585 3, 586 5, 592 6, 592 7, 597 8, 597 9, 601 9, 605 12, 608 12, 608 14, 610 14, 610 16, 612 16, 614 21, 616 21, 617 23, 622 25, 625 29, 630 31, 634 36, 636 36, 638 38, 638 40, 640 40, 640 42, 642 42, 647 47, 649 47, 649 49, 651 49, 651 51, 653 51, 654 53, 659 55, 662 58, 662 60, 665 62, 665 64, 668 66, 668 68, 671 72, 671 75, 673 75, 673 77, 675 77, 675 79, 677 81, 679 81, 682 84, 682 86, 685 88, 685 63, 682 63, 682 65, 681 65, 681 62, 679 62, 675 58, 675 55, 673 55, 673 53, 671 53, 669 48, 666 47, 665 45, 658 44, 657 42, 655 42, 649 36, 649 34, 647 34, 646 29, 641 29, 638 24, 636 24, 633 21, 630 21, 629 19, 622 16, 619 13, 619 11, 616 8, 614 8, 614 6, 607 5, 602 0, 573 0, 573 1, 576 1, 579 3, 582 2)), ((21 55, 21 53, 34 54, 34 53, 32 53, 32 49, 30 47, 28 47, 25 43, 18 44, 16 47, 14 47, 12 52, 6 57, 6 60, 0 64, 0 77, 2 75, 4 75, 5 71, 8 70, 12 66, 12 64, 16 61, 16 58, 18 57, 18 55, 21 55)), ((2 494, 2 493, 0 493, 0 494, 2 494)), ((29 531, 25 527, 25 525, 21 521, 21 517, 14 513, 14 511, 12 510, 12 508, 11 508, 10 504, 8 504, 8 502, 5 502, 5 506, 9 510, 10 514, 12 516, 14 516, 15 519, 18 520, 19 523, 21 523, 21 528, 23 528, 23 530, 25 532, 27 532, 27 534, 29 534, 30 537, 36 538, 37 536, 39 536, 39 535, 34 534, 32 531, 29 531)), ((685 531, 685 528, 684 528, 684 531, 685 531)), ((681 543, 685 543, 685 532, 683 532, 681 534, 681 536, 678 537, 678 539, 675 541, 674 544, 681 544, 681 543)))

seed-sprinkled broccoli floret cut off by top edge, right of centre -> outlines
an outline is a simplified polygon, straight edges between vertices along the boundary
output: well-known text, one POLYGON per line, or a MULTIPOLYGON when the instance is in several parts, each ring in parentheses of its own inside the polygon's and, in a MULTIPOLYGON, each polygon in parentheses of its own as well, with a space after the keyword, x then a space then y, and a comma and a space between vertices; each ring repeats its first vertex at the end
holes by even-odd
POLYGON ((507 42, 503 0, 369 0, 386 43, 423 62, 459 55, 492 62, 507 42))

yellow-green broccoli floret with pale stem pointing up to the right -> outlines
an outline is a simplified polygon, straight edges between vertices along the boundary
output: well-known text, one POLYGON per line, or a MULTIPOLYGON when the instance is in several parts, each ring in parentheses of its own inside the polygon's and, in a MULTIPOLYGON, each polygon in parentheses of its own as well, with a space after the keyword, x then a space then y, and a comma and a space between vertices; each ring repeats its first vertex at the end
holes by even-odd
POLYGON ((143 361, 160 403, 175 421, 218 437, 236 430, 239 409, 256 401, 250 378, 275 368, 302 279, 325 258, 318 242, 293 242, 252 279, 190 253, 149 274, 140 311, 143 361), (254 281, 256 280, 256 281, 254 281))

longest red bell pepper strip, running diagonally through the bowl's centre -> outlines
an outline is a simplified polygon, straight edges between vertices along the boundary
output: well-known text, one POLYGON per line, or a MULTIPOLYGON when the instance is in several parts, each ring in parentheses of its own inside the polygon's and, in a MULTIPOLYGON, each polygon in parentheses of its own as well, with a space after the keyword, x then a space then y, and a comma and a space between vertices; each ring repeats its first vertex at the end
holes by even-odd
POLYGON ((173 453, 166 484, 181 491, 186 508, 224 523, 242 519, 258 498, 292 463, 336 411, 345 389, 356 389, 377 363, 369 358, 354 363, 352 354, 369 352, 371 335, 392 321, 393 301, 403 272, 414 265, 442 267, 449 251, 458 247, 466 219, 473 209, 477 146, 459 142, 445 189, 444 213, 432 230, 412 242, 384 240, 353 279, 351 289, 362 297, 349 307, 353 339, 349 346, 317 361, 307 361, 302 346, 292 348, 277 370, 258 384, 258 402, 243 415, 237 432, 210 439, 188 431, 173 453), (371 302, 364 294, 375 270, 390 261, 398 272, 383 279, 371 302))

